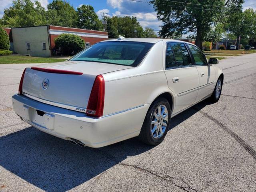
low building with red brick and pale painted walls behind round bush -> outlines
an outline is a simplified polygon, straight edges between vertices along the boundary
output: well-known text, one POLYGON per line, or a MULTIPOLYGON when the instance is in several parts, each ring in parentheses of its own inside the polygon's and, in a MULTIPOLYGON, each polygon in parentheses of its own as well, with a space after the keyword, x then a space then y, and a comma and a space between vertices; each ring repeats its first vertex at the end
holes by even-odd
POLYGON ((40 57, 56 54, 54 39, 63 33, 80 36, 86 47, 108 39, 108 32, 52 25, 3 29, 9 35, 12 51, 40 57))

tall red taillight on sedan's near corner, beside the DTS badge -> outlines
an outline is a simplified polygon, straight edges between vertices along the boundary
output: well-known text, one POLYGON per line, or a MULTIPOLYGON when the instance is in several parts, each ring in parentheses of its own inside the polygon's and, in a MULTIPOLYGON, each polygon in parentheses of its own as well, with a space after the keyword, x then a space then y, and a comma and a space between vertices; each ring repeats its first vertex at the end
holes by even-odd
POLYGON ((98 75, 94 80, 89 102, 86 108, 86 114, 88 116, 101 117, 103 115, 104 96, 105 81, 102 75, 98 75))

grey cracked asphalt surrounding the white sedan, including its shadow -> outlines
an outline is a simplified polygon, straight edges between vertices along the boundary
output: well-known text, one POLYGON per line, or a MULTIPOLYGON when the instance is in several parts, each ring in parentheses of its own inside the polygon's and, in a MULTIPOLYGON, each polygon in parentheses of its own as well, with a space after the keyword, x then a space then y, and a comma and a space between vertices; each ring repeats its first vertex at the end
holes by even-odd
POLYGON ((256 54, 220 60, 222 96, 172 118, 164 142, 81 148, 12 110, 25 67, 0 65, 0 191, 256 191, 256 54))

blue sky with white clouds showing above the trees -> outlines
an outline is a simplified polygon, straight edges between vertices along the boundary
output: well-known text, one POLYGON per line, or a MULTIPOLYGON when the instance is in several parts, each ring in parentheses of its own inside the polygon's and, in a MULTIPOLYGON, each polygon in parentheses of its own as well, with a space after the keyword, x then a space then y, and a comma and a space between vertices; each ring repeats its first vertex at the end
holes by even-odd
MULTIPOLYGON (((34 1, 34 0, 32 0, 34 1)), ((38 0, 46 8, 52 0, 38 0)), ((101 12, 108 13, 109 16, 136 16, 140 24, 145 27, 153 28, 156 32, 160 30, 161 22, 156 18, 156 12, 152 5, 130 0, 66 0, 74 8, 82 4, 88 4, 94 7, 94 11, 102 18, 101 12)), ((142 0, 150 1, 150 0, 142 0)), ((0 0, 0 18, 4 14, 4 9, 12 6, 12 0, 0 0)), ((256 10, 256 0, 245 0, 244 9, 253 8, 256 10)))

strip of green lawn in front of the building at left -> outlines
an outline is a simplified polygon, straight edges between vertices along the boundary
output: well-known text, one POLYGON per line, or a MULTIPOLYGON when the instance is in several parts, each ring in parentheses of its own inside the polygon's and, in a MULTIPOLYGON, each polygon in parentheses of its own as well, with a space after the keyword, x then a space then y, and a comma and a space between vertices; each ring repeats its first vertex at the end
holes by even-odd
POLYGON ((6 55, 0 56, 0 64, 10 64, 10 63, 53 63, 66 61, 66 59, 55 59, 46 57, 29 57, 22 55, 6 55))

